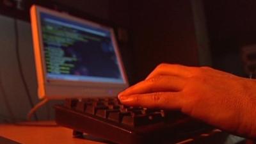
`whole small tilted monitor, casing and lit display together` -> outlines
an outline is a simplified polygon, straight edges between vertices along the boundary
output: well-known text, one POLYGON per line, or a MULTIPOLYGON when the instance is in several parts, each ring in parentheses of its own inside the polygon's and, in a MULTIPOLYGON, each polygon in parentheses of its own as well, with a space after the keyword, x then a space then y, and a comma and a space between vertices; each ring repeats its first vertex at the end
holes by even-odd
POLYGON ((38 95, 114 97, 128 86, 112 28, 33 5, 38 95))

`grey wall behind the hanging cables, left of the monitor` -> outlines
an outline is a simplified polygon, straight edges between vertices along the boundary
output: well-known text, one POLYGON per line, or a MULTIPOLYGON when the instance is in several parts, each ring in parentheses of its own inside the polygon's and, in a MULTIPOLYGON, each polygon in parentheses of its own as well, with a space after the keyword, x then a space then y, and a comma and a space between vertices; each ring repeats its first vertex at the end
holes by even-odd
MULTIPOLYGON (((15 121, 24 120, 29 109, 31 109, 28 94, 19 71, 18 55, 33 104, 39 101, 37 99, 30 24, 17 20, 18 47, 16 47, 14 26, 14 19, 0 15, 0 122, 8 122, 12 120, 12 117, 15 121), (17 51, 19 52, 17 53, 17 51)), ((53 103, 49 102, 40 109, 38 118, 41 120, 53 118, 53 103)))

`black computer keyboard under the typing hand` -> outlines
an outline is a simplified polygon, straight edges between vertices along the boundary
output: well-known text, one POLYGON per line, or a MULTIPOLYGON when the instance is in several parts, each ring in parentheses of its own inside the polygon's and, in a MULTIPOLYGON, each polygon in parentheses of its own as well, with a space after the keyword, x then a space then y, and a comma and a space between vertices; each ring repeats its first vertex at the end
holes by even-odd
POLYGON ((177 143, 212 127, 179 111, 129 107, 118 99, 67 99, 55 106, 56 123, 113 143, 177 143))

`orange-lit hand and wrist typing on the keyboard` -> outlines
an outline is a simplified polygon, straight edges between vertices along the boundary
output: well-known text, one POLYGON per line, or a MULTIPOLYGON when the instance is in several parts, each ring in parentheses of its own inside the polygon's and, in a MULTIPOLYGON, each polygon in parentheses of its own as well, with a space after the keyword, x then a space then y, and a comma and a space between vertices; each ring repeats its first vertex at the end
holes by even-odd
POLYGON ((159 65, 118 95, 129 106, 180 109, 220 129, 256 138, 256 81, 209 67, 159 65))

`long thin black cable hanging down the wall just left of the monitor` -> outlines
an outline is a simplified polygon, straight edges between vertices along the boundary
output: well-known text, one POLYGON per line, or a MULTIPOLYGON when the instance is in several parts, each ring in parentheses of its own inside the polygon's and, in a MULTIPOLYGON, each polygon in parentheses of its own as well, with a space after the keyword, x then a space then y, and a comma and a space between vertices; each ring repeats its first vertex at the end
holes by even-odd
MULTIPOLYGON (((18 26, 17 26, 17 20, 14 19, 14 31, 15 31, 15 48, 16 48, 16 55, 17 55, 17 61, 18 61, 18 67, 19 67, 19 72, 20 72, 20 77, 22 79, 22 83, 24 84, 24 88, 26 91, 26 94, 28 96, 29 104, 31 108, 34 108, 33 100, 31 98, 31 95, 28 90, 28 84, 25 81, 25 77, 22 71, 22 64, 20 61, 20 53, 19 53, 19 31, 18 31, 18 26)), ((38 120, 37 115, 35 114, 35 120, 38 120)))

